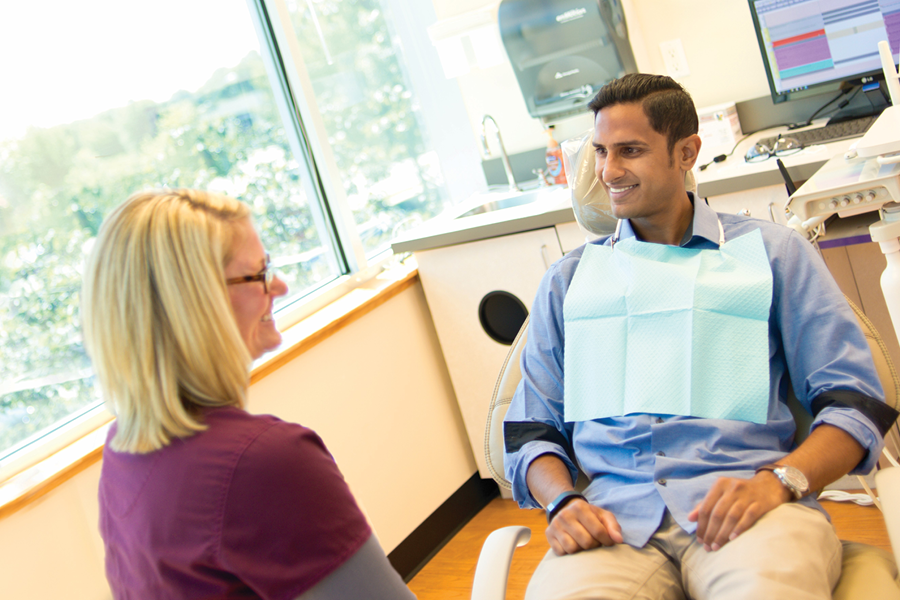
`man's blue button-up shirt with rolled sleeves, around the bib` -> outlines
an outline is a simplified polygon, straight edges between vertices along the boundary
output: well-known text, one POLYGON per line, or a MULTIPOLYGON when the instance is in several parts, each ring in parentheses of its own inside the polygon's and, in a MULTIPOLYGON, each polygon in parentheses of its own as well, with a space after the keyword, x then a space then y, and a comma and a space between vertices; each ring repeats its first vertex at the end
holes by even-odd
MULTIPOLYGON (((809 242, 768 221, 717 215, 700 200, 694 203, 692 226, 681 245, 718 248, 717 219, 726 240, 759 229, 772 266, 768 421, 637 414, 566 423, 563 301, 584 249, 578 248, 554 263, 541 282, 522 352, 522 381, 504 422, 506 477, 520 506, 539 507, 525 474, 535 458, 555 454, 566 463, 573 481, 578 468, 584 471, 590 479, 585 496, 616 516, 628 544, 644 546, 666 508, 692 533, 696 523, 688 521, 687 515, 717 478, 750 478, 758 467, 777 461, 795 447, 794 419, 785 404, 789 379, 797 399, 810 412, 812 401, 829 391, 883 401, 856 317, 809 242), (531 433, 520 435, 523 431, 531 433)), ((625 221, 621 237, 634 235, 625 221)), ((594 243, 609 245, 609 238, 594 243)), ((867 450, 854 473, 874 468, 883 439, 870 419, 854 408, 832 405, 818 412, 812 428, 823 423, 843 429, 867 450)), ((812 496, 800 502, 822 510, 812 496)))

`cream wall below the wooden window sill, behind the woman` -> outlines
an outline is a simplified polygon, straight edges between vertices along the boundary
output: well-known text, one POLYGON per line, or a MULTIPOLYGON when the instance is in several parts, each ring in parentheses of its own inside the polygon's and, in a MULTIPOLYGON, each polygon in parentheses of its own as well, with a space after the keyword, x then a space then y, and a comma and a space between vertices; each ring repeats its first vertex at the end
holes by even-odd
MULTIPOLYGON (((315 429, 385 551, 475 473, 419 284, 253 385, 250 411, 315 429)), ((109 598, 100 464, 0 519, 0 598, 109 598)))

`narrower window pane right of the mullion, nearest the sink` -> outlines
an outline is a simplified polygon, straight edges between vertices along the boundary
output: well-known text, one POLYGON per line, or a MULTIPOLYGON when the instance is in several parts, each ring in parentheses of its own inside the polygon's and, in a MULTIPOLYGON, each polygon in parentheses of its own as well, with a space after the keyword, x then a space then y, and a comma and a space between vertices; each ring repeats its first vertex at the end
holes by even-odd
POLYGON ((397 36, 379 0, 289 0, 295 39, 367 255, 407 218, 445 208, 397 36))

